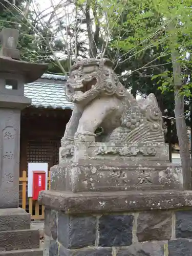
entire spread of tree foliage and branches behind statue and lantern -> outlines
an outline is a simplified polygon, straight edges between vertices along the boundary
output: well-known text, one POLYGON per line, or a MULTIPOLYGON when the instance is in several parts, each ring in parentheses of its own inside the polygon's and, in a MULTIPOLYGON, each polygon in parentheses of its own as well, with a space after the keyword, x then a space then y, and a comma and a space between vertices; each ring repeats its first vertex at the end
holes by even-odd
MULTIPOLYGON (((20 30, 18 48, 24 60, 48 62, 49 72, 61 74, 62 67, 68 73, 76 58, 88 56, 89 38, 84 26, 88 20, 84 10, 89 7, 93 34, 94 29, 99 28, 99 34, 94 38, 97 56, 101 57, 104 52, 104 57, 114 61, 115 72, 134 96, 139 94, 145 97, 154 93, 163 116, 175 117, 173 49, 179 52, 177 61, 182 67, 183 78, 180 93, 184 95, 185 102, 192 91, 190 1, 76 0, 72 4, 76 5, 76 20, 69 27, 66 25, 66 17, 55 19, 54 25, 47 28, 46 24, 34 18, 32 9, 25 19, 14 8, 11 12, 8 9, 0 12, 0 26, 13 26, 20 30), (71 37, 68 35, 68 41, 60 39, 58 34, 61 31, 64 37, 67 33, 72 34, 71 37), (81 40, 82 34, 86 39, 81 40), (74 38, 76 41, 73 41, 74 38), (77 56, 74 49, 77 50, 77 56), (60 65, 53 58, 53 52, 62 53, 59 57, 60 65)), ((185 108, 188 110, 188 104, 185 104, 185 108)), ((167 120, 164 119, 165 126, 168 125, 167 120)), ((174 122, 171 129, 174 134, 174 122)), ((174 134, 172 142, 175 140, 174 134)))

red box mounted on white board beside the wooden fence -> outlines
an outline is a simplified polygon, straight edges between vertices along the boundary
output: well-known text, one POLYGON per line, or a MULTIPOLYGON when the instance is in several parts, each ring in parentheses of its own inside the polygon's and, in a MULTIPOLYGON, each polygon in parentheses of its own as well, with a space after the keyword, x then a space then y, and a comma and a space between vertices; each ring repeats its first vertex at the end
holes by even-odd
POLYGON ((38 199, 39 192, 46 190, 46 172, 33 171, 33 200, 38 199))

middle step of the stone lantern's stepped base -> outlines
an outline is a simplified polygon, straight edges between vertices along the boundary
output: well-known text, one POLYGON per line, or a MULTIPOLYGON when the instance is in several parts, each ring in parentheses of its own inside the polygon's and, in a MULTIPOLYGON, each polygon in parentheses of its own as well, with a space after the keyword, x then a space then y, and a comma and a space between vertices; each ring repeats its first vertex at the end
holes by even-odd
POLYGON ((39 248, 38 230, 10 230, 0 232, 0 251, 39 248))

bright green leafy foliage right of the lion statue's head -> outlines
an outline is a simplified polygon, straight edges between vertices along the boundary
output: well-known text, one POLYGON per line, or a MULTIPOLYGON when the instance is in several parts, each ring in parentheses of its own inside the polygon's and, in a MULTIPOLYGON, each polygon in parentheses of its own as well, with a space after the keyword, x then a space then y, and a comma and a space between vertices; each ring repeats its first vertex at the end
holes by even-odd
MULTIPOLYGON (((186 103, 190 96, 191 63, 186 59, 186 52, 191 52, 190 5, 189 1, 132 0, 124 5, 118 24, 112 27, 110 51, 106 55, 115 60, 115 71, 120 75, 124 86, 132 89, 134 96, 154 93, 165 117, 175 117, 171 58, 173 48, 180 52, 177 60, 181 63, 183 76, 180 91, 185 96, 186 103), (173 28, 170 25, 175 20, 177 22, 173 28), (177 37, 176 41, 173 36, 177 37)), ((188 108, 189 105, 185 104, 185 110, 188 108)), ((166 126, 168 119, 164 119, 164 123, 166 126)), ((175 143, 175 122, 172 122, 171 129, 175 133, 171 141, 175 143)))

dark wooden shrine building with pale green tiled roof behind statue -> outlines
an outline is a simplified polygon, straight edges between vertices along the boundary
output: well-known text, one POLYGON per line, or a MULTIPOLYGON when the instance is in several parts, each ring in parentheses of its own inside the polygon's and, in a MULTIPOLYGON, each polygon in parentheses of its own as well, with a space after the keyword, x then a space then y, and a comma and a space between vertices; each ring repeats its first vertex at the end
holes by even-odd
POLYGON ((58 150, 73 104, 65 94, 66 77, 44 74, 25 84, 24 94, 32 104, 24 109, 20 123, 20 176, 29 162, 58 164, 58 150))

